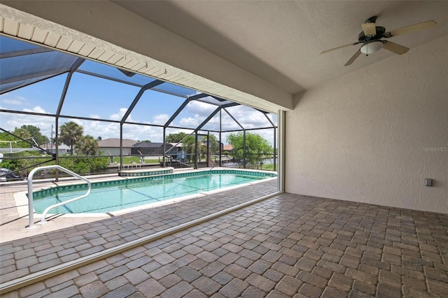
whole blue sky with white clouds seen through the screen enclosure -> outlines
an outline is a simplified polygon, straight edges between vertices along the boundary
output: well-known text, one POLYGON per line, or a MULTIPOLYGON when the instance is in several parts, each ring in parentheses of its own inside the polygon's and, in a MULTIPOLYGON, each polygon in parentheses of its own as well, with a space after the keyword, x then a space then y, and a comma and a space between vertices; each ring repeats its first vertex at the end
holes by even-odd
MULTIPOLYGON (((3 37, 2 37, 3 38, 3 37)), ((2 39, 3 45, 5 44, 2 39)), ((1 50, 4 50, 2 48, 1 50)), ((45 54, 45 53, 43 53, 45 54)), ((46 53, 48 54, 48 53, 46 53)), ((45 54, 45 55, 46 55, 45 54)), ((38 54, 41 55, 41 54, 38 54)), ((41 57, 43 59, 43 57, 41 57)), ((31 62, 30 62, 31 63, 31 62)), ((36 66, 38 67, 38 66, 36 66)), ((5 71, 6 67, 0 68, 5 71)), ((151 83, 153 78, 141 75, 134 75, 131 78, 125 76, 118 69, 112 66, 106 66, 97 62, 86 61, 80 66, 80 71, 95 71, 104 75, 127 80, 132 83, 144 85, 151 83)), ((7 71, 7 69, 6 69, 7 71)), ((55 76, 42 80, 41 82, 28 85, 0 95, 0 108, 13 111, 28 111, 34 113, 54 114, 57 111, 59 99, 62 96, 66 74, 55 76)), ((0 82, 1 83, 1 82, 0 82)), ((134 107, 128 122, 137 122, 142 124, 164 125, 171 115, 181 106, 185 97, 197 94, 195 90, 185 87, 163 83, 157 88, 182 94, 179 97, 173 94, 146 90, 139 102, 134 107)), ((127 112, 130 104, 138 94, 140 88, 133 85, 118 83, 113 80, 106 80, 90 76, 85 73, 74 73, 71 78, 69 89, 66 92, 61 115, 73 115, 78 117, 94 118, 98 120, 78 120, 69 118, 60 118, 59 126, 64 122, 73 121, 83 126, 84 134, 101 137, 102 139, 120 138, 120 127, 118 123, 104 122, 99 120, 121 120, 127 112)), ((179 127, 195 128, 204 121, 217 106, 191 101, 186 108, 176 117, 172 125, 179 127)), ((234 106, 227 108, 232 116, 238 120, 246 129, 255 127, 269 127, 269 121, 263 113, 246 106, 234 106)), ((219 129, 219 114, 212 118, 204 129, 219 129)), ((223 130, 239 129, 239 125, 223 112, 222 114, 223 130)), ((276 115, 268 114, 268 117, 276 123, 276 115)), ((0 127, 12 132, 15 127, 22 125, 34 125, 41 129, 45 136, 55 134, 55 119, 41 115, 25 115, 15 113, 0 112, 0 127)), ((186 132, 190 134, 193 130, 189 129, 167 129, 167 135, 177 132, 186 132)), ((254 130, 253 133, 260 134, 267 141, 273 143, 274 129, 254 130)), ((225 138, 229 133, 223 133, 222 142, 227 143, 225 138)), ((218 135, 216 134, 218 137, 218 135)), ((163 131, 160 127, 151 127, 147 125, 123 125, 123 139, 132 139, 134 141, 150 140, 152 142, 162 142, 163 131)))

